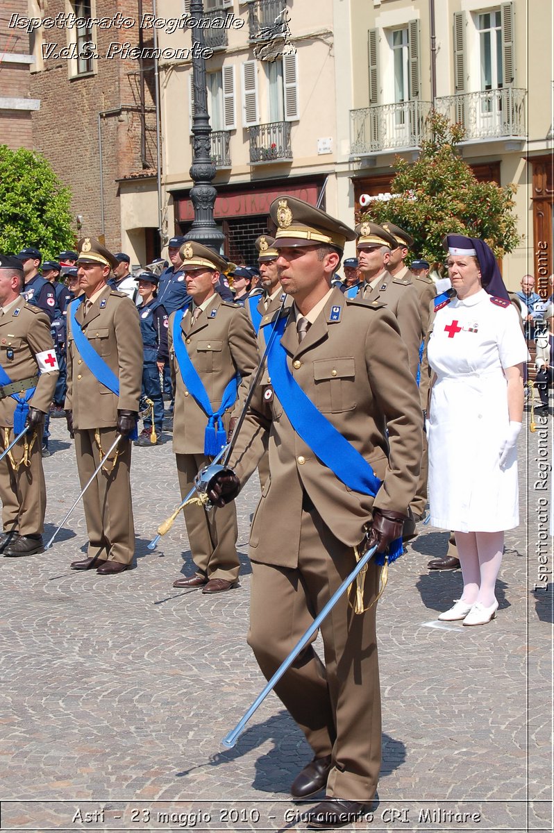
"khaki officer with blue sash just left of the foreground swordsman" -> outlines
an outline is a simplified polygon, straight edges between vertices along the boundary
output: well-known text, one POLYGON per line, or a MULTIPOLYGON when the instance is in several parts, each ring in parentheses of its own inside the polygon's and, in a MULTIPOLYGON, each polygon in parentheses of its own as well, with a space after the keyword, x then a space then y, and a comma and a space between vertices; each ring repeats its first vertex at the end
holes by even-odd
MULTIPOLYGON (((243 310, 222 301, 215 290, 227 267, 223 258, 197 242, 186 242, 181 252, 192 307, 170 316, 168 344, 175 387, 173 451, 184 498, 241 412, 257 367, 257 343, 243 310)), ((197 569, 173 586, 202 586, 203 593, 230 590, 239 571, 234 504, 210 513, 189 505, 184 515, 197 569)))

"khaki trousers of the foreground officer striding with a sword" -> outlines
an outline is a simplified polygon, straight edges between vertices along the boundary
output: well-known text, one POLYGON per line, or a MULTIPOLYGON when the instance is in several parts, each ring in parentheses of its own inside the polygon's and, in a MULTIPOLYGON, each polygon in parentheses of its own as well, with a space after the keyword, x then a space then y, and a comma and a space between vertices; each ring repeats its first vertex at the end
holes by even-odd
MULTIPOLYGON (((252 562, 248 644, 267 679, 355 563, 352 548, 314 510, 302 511, 297 569, 252 562)), ((370 561, 366 606, 377 596, 379 575, 370 561)), ((352 801, 373 798, 381 767, 375 616, 376 605, 356 615, 342 596, 322 624, 325 665, 310 644, 275 688, 314 755, 332 755, 327 795, 352 801)))

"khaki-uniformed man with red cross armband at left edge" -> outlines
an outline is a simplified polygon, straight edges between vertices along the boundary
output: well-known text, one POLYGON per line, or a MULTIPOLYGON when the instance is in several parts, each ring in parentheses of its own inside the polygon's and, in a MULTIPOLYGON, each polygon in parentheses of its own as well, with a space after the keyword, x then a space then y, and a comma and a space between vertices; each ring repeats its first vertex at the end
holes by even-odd
POLYGON ((56 387, 57 360, 50 322, 24 302, 22 262, 0 255, 0 426, 2 451, 27 424, 30 431, 0 462, 2 528, 0 552, 43 552, 46 486, 41 438, 44 416, 56 387))

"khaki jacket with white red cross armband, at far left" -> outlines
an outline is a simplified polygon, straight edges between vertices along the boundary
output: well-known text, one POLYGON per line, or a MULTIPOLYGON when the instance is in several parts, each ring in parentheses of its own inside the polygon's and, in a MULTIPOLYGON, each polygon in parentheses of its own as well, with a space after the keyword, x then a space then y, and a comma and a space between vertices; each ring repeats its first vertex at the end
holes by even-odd
MULTIPOLYGON (((12 379, 30 379, 38 375, 37 353, 51 350, 55 357, 50 321, 46 312, 20 299, 11 312, 0 317, 0 364, 12 379), (14 312, 16 313, 14 315, 14 312), (8 353, 13 358, 8 358, 8 353)), ((56 387, 58 372, 42 373, 29 405, 47 413, 56 387)), ((12 397, 0 400, 0 426, 13 426, 16 402, 12 397)))

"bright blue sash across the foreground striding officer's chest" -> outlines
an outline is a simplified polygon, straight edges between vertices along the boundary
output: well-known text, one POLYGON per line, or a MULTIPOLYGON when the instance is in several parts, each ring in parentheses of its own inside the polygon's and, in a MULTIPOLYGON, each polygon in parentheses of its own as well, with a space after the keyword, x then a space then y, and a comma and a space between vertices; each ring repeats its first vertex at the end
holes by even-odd
MULTIPOLYGON (((352 491, 375 497, 382 481, 375 475, 372 466, 359 451, 342 436, 340 431, 317 410, 311 399, 292 377, 287 366, 287 352, 281 344, 281 337, 287 325, 287 317, 277 323, 277 338, 267 353, 267 370, 273 390, 281 402, 294 431, 319 457, 324 466, 352 491)), ((402 555, 402 538, 392 541, 388 561, 396 561, 402 555)), ((382 553, 377 564, 384 563, 382 553)))

